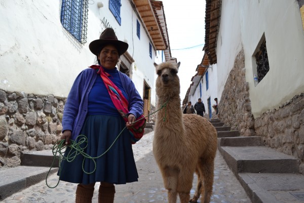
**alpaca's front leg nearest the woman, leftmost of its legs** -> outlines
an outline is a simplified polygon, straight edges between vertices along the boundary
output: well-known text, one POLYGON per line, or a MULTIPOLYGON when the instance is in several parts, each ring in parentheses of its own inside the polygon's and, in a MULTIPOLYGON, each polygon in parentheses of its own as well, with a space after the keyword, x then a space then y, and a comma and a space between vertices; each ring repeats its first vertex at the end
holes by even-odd
POLYGON ((168 190, 168 203, 176 203, 178 170, 166 167, 162 170, 165 188, 168 190))

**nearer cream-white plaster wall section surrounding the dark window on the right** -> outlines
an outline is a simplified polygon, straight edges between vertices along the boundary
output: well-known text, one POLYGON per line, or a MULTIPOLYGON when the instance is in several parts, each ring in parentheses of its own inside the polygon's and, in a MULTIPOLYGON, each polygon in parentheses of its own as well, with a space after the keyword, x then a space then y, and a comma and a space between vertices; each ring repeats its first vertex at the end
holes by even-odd
POLYGON ((256 117, 304 92, 304 31, 295 0, 239 1, 239 5, 246 81, 256 117), (254 87, 252 56, 263 33, 270 71, 254 87))

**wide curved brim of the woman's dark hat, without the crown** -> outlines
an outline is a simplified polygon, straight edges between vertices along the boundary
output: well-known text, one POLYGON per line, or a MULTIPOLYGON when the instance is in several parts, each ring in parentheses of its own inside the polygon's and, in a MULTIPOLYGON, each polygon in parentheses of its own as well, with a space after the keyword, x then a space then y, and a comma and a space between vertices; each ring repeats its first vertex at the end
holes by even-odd
POLYGON ((97 56, 98 51, 102 45, 113 45, 118 49, 120 55, 124 54, 128 50, 128 43, 120 40, 94 40, 89 44, 90 51, 97 56))

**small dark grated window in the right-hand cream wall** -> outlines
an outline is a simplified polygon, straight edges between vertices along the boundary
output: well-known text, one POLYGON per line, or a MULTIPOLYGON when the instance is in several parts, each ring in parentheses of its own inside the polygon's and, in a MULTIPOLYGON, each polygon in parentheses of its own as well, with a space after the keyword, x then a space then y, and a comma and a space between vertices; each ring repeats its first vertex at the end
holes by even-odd
POLYGON ((255 54, 255 60, 256 60, 256 70, 257 70, 257 79, 258 82, 260 82, 265 75, 269 72, 269 62, 268 62, 268 54, 267 54, 267 48, 266 48, 266 40, 264 40, 258 50, 258 52, 255 54))

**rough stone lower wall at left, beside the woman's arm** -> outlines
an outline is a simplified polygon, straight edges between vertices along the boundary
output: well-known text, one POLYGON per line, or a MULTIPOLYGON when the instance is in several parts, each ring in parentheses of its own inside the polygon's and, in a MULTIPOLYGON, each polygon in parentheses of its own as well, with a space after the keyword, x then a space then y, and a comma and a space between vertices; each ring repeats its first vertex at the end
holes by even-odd
POLYGON ((22 151, 51 149, 60 140, 65 99, 0 90, 0 167, 20 165, 22 151))

